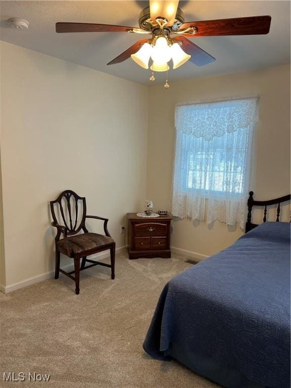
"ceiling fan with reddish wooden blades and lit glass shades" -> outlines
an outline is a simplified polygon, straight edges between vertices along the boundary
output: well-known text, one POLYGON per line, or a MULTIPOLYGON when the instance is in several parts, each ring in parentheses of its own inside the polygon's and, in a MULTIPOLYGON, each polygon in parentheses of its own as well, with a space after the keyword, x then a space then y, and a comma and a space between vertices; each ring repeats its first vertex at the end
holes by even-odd
MULTIPOLYGON (((138 40, 107 65, 120 63, 131 57, 139 66, 148 69, 149 61, 152 59, 150 66, 152 71, 168 71, 170 60, 173 61, 173 69, 188 60, 197 66, 204 66, 215 61, 215 58, 187 37, 257 35, 267 34, 270 30, 270 16, 185 22, 178 3, 178 0, 150 0, 150 7, 142 10, 139 15, 139 28, 110 24, 58 22, 56 31, 150 34, 150 38, 138 40)), ((150 79, 155 79, 153 72, 150 79)), ((165 87, 169 87, 168 81, 165 87)))

